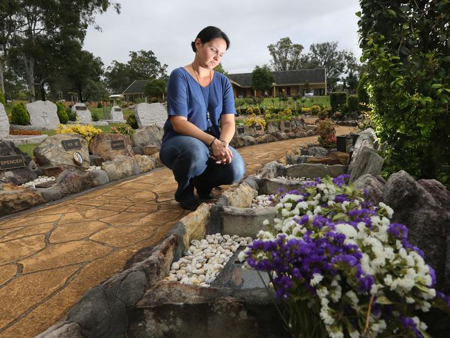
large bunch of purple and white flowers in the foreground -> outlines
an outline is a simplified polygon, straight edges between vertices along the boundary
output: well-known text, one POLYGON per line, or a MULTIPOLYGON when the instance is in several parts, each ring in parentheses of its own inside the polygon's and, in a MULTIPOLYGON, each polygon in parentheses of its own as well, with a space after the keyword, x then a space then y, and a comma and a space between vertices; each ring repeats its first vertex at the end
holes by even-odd
POLYGON ((279 218, 239 258, 269 273, 293 337, 429 337, 420 314, 449 298, 392 209, 365 201, 347 177, 280 192, 279 218))

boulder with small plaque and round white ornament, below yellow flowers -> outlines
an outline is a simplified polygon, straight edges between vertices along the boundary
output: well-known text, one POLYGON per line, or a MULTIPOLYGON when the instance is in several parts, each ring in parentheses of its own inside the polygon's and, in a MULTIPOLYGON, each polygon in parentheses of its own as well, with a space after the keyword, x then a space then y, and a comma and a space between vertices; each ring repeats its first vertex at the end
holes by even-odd
POLYGON ((90 165, 87 142, 78 134, 56 134, 49 136, 34 149, 33 154, 37 163, 42 167, 76 167, 87 169, 90 165), (75 139, 80 141, 81 149, 65 150, 62 142, 75 139), (73 160, 73 153, 76 151, 83 157, 82 164, 77 164, 73 160))

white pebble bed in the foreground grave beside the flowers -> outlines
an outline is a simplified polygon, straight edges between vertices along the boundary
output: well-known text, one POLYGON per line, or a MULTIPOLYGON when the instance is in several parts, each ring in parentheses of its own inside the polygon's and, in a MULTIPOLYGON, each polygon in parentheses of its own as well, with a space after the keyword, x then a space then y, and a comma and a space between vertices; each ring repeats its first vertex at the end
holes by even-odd
POLYGON ((239 246, 247 246, 252 240, 251 237, 219 233, 207 235, 200 241, 193 239, 185 255, 172 263, 166 280, 209 287, 239 246))

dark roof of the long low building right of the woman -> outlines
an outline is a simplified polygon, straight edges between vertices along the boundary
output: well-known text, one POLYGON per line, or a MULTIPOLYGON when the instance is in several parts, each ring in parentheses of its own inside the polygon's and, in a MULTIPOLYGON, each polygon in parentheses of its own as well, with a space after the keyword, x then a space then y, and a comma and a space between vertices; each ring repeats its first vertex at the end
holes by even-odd
MULTIPOLYGON (((272 71, 275 85, 298 85, 302 83, 325 83, 325 69, 300 69, 272 71)), ((228 74, 230 81, 239 87, 252 86, 252 73, 228 74)))

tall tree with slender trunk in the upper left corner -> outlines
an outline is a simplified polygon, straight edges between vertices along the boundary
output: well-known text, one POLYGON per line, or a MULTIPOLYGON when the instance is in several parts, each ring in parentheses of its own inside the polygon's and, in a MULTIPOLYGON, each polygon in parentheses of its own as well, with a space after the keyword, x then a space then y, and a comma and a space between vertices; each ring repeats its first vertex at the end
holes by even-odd
POLYGON ((24 67, 31 101, 36 96, 37 62, 46 58, 42 53, 42 42, 49 40, 55 48, 67 41, 82 44, 87 26, 94 24, 96 13, 105 12, 110 6, 120 12, 119 3, 109 0, 8 0, 6 10, 11 21, 17 24, 9 29, 12 32, 9 34, 7 28, 1 28, 2 55, 5 54, 5 46, 16 50, 24 67))

